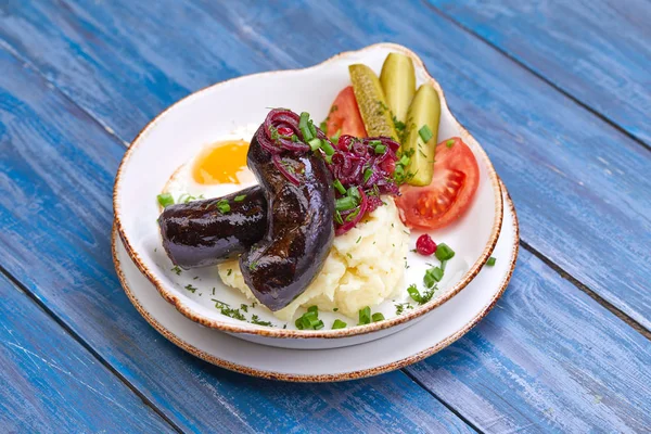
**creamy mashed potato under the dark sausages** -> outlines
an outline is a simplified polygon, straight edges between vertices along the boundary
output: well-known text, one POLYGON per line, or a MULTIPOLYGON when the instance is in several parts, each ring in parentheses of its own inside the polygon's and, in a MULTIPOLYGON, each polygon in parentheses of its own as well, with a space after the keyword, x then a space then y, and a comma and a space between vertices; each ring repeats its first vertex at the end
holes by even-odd
MULTIPOLYGON (((321 272, 295 301, 273 312, 278 318, 288 321, 299 306, 314 305, 319 310, 336 307, 340 314, 356 318, 359 309, 382 303, 403 288, 409 231, 400 221, 393 199, 383 199, 386 205, 334 239, 321 272)), ((255 301, 238 260, 218 267, 224 283, 255 301)))

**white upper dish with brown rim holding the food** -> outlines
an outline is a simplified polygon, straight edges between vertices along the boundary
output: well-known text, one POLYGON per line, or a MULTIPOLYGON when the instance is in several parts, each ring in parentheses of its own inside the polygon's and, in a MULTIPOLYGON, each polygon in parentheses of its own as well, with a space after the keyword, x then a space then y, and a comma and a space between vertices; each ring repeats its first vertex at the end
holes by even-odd
MULTIPOLYGON (((250 140, 247 137, 244 139, 250 140)), ((163 297, 181 314, 206 327, 244 333, 243 337, 268 345, 314 348, 350 345, 385 336, 422 318, 459 293, 493 252, 501 227, 502 197, 497 175, 486 153, 454 118, 443 90, 430 77, 421 60, 404 47, 381 43, 339 54, 306 69, 256 74, 225 81, 179 101, 148 125, 127 151, 116 177, 114 210, 116 228, 129 256, 163 297), (384 321, 341 330, 328 330, 327 327, 319 331, 302 331, 295 330, 293 321, 283 323, 275 319, 268 309, 259 305, 255 309, 250 308, 250 315, 255 314, 276 327, 256 326, 221 315, 212 302, 213 288, 218 299, 231 306, 247 303, 246 298, 225 286, 215 268, 192 270, 181 276, 171 271, 171 263, 162 248, 155 224, 159 213, 156 195, 170 175, 180 165, 191 161, 203 146, 217 140, 232 139, 235 131, 259 125, 268 112, 267 107, 307 111, 315 119, 324 118, 335 95, 349 85, 349 64, 365 63, 379 72, 386 55, 394 51, 413 59, 418 84, 429 81, 438 89, 442 98, 438 139, 461 137, 475 154, 480 166, 480 187, 467 215, 455 225, 433 233, 436 242, 447 243, 457 253, 447 265, 445 278, 438 285, 439 291, 430 303, 396 315, 395 304, 407 301, 406 288, 409 284, 419 283, 423 290, 422 277, 429 268, 426 263, 432 261, 431 258, 409 254, 407 261, 410 268, 406 271, 404 293, 372 307, 373 311, 384 314, 384 321), (188 284, 200 290, 194 293, 183 290, 188 284), (350 336, 357 337, 340 340, 350 336), (307 339, 316 341, 310 343, 307 339)), ((410 248, 420 234, 419 231, 412 231, 410 248)), ((335 317, 336 314, 323 314, 322 319, 331 324, 335 317)), ((354 321, 342 319, 348 323, 354 321)))

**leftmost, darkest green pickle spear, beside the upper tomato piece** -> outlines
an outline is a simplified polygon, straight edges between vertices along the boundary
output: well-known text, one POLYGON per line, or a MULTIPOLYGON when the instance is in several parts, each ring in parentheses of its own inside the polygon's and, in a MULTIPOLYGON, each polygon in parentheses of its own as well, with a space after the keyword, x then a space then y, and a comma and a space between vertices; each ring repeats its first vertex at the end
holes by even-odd
POLYGON ((348 66, 353 91, 369 137, 385 136, 398 140, 380 79, 367 65, 348 66))

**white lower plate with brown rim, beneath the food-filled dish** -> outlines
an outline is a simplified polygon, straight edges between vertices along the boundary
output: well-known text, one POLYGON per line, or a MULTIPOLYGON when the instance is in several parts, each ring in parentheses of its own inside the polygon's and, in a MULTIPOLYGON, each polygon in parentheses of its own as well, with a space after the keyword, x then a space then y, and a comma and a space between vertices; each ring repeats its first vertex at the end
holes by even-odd
POLYGON ((161 334, 210 363, 248 375, 285 381, 342 381, 376 375, 419 361, 450 345, 497 303, 515 267, 519 228, 505 190, 505 219, 495 247, 497 263, 422 321, 388 337, 335 349, 288 349, 256 345, 204 328, 167 304, 133 265, 113 233, 118 277, 138 311, 161 334))

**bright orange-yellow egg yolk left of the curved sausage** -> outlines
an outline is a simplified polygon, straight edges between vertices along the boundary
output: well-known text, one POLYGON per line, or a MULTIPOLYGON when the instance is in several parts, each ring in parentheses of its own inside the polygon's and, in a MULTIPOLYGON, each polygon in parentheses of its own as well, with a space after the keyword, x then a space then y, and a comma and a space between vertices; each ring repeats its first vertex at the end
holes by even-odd
POLYGON ((246 169, 248 142, 229 140, 208 146, 199 155, 192 169, 197 183, 240 183, 238 174, 246 169))

